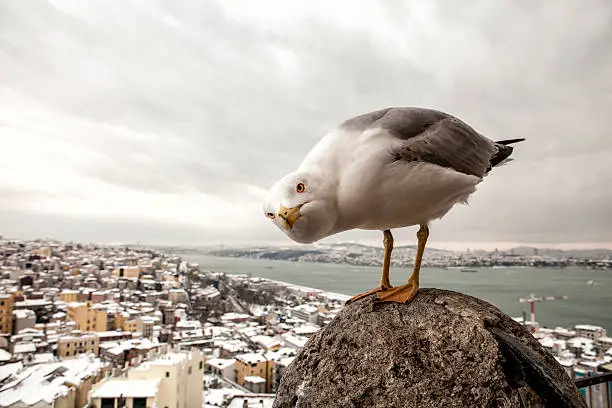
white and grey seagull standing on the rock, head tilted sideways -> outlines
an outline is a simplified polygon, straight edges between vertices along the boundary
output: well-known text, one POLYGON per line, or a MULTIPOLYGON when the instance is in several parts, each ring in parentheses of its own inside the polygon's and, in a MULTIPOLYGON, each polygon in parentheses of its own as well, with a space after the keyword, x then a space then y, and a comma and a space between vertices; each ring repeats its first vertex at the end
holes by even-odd
POLYGON ((429 223, 467 204, 496 166, 512 160, 513 143, 494 142, 458 118, 417 107, 387 108, 348 119, 328 132, 296 171, 267 193, 264 214, 289 238, 313 243, 352 230, 383 233, 380 285, 352 297, 408 303, 419 289, 429 223), (393 287, 391 230, 419 226, 414 269, 393 287))

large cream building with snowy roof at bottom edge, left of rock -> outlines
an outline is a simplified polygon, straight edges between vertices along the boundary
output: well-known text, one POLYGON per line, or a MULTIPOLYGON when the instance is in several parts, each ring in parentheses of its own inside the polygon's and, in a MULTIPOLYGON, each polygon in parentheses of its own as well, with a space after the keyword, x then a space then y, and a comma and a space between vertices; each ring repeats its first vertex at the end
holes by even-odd
POLYGON ((201 408, 203 360, 197 349, 159 355, 98 384, 91 406, 117 408, 123 399, 127 408, 201 408))

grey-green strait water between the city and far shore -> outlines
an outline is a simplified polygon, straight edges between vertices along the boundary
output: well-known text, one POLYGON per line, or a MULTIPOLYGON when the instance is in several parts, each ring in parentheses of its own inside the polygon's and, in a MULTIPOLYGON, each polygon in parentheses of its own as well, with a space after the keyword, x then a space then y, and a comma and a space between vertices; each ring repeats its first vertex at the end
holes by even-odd
MULTIPOLYGON (((221 258, 181 254, 202 271, 246 274, 354 295, 378 285, 380 267, 325 263, 221 258)), ((392 268, 393 284, 404 283, 409 271, 392 268)), ((476 273, 459 269, 423 268, 421 286, 455 290, 491 302, 511 316, 529 313, 519 297, 567 295, 567 300, 536 303, 536 320, 546 327, 572 327, 579 323, 603 326, 612 331, 612 271, 568 268, 477 268, 476 273)))

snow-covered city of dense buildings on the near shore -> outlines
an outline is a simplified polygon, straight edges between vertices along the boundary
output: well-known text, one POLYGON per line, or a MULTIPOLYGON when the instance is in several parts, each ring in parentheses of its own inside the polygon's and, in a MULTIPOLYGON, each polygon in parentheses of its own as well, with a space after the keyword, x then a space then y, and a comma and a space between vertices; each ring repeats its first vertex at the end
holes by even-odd
MULTIPOLYGON (((157 250, 51 240, 1 240, 0 274, 0 407, 271 407, 284 370, 348 299, 157 250)), ((612 370, 605 328, 515 320, 568 376, 612 370)))

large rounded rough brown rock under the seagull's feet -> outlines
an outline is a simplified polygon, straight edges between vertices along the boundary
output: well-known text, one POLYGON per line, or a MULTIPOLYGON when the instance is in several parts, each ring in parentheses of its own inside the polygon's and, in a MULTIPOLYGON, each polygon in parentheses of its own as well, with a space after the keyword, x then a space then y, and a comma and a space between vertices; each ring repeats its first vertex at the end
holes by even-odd
POLYGON ((521 325, 482 300, 421 289, 345 307, 285 372, 274 407, 586 407, 521 325))

